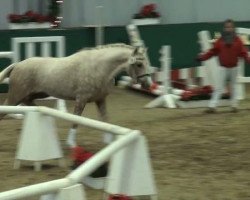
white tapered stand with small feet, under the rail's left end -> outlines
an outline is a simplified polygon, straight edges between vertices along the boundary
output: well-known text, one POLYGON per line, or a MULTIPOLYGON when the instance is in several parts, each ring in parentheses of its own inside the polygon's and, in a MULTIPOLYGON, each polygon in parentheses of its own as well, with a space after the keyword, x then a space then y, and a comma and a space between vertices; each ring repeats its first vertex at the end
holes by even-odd
POLYGON ((20 167, 21 160, 27 160, 34 162, 35 170, 40 171, 42 161, 62 158, 54 119, 39 112, 28 112, 24 118, 14 168, 20 167))

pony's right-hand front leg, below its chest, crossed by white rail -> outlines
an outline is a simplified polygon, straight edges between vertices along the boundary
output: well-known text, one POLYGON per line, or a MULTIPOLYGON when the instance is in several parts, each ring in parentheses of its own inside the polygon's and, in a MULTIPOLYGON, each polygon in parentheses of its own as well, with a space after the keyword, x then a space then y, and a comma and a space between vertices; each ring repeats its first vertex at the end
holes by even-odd
MULTIPOLYGON (((104 122, 108 121, 107 117, 107 109, 106 109, 106 99, 101 99, 99 101, 96 101, 96 106, 100 114, 100 119, 104 122)), ((106 144, 109 144, 110 142, 113 141, 113 134, 112 133, 104 133, 103 136, 103 142, 106 144)))

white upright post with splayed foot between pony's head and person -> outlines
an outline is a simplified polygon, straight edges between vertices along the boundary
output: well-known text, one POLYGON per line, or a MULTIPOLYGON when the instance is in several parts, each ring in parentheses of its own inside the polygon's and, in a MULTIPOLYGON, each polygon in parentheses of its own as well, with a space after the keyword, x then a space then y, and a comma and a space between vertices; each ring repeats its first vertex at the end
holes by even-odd
POLYGON ((157 97, 153 101, 149 102, 145 108, 165 107, 165 108, 176 108, 177 96, 171 93, 171 47, 163 46, 161 49, 161 68, 162 70, 162 81, 163 81, 163 95, 157 97))

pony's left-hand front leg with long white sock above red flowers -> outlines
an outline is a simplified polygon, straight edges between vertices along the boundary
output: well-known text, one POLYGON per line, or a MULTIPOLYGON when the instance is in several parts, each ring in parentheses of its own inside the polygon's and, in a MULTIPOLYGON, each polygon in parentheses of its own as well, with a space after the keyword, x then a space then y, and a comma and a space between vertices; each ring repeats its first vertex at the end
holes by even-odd
MULTIPOLYGON (((82 115, 82 112, 85 108, 85 105, 86 105, 86 102, 85 100, 76 100, 76 105, 75 105, 75 108, 74 108, 74 114, 75 115, 79 115, 81 116, 82 115)), ((70 148, 74 148, 77 146, 77 143, 76 143, 76 130, 77 130, 77 127, 78 127, 78 124, 73 124, 71 129, 69 130, 68 132, 68 138, 67 138, 67 145, 70 147, 70 148)))

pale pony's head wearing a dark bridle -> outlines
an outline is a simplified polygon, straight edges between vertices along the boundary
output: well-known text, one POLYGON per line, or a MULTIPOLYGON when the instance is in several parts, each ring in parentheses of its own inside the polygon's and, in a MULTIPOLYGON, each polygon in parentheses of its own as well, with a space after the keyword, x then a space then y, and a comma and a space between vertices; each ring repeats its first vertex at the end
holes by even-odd
POLYGON ((141 83, 142 87, 148 89, 151 85, 149 63, 146 57, 146 49, 136 47, 130 56, 127 73, 132 77, 133 83, 141 83))

